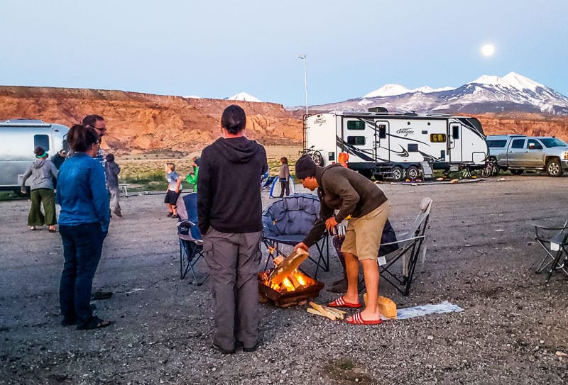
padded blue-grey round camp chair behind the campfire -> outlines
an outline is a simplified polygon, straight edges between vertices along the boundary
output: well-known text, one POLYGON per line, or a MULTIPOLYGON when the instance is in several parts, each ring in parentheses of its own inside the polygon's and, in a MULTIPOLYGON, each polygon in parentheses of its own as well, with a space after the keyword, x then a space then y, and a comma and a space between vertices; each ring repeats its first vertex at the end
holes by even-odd
MULTIPOLYGON (((318 216, 320 216, 320 199, 312 194, 285 196, 268 206, 262 213, 262 242, 268 249, 268 258, 264 269, 268 268, 270 259, 274 260, 278 255, 287 256, 280 245, 294 246, 302 242, 307 233, 310 233, 318 216)), ((312 247, 317 250, 317 257, 312 257, 310 254, 308 259, 316 264, 314 278, 317 278, 320 267, 329 272, 329 237, 327 231, 312 247)))

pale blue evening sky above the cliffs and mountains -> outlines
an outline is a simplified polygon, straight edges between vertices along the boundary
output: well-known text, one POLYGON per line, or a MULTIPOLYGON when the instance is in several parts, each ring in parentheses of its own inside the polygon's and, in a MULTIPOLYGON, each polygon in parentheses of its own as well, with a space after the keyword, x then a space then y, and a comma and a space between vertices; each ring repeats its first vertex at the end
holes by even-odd
POLYGON ((0 1, 0 85, 302 106, 518 72, 568 96, 568 1, 0 1), (483 57, 491 42, 495 55, 483 57))

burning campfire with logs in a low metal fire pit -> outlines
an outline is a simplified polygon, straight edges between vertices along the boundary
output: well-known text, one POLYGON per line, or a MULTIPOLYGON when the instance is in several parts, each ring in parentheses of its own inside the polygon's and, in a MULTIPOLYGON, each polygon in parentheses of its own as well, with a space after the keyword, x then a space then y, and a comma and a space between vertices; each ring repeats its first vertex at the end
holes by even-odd
POLYGON ((275 306, 286 308, 317 297, 324 284, 298 270, 307 255, 304 250, 295 250, 285 259, 275 258, 273 269, 258 273, 261 301, 273 301, 275 306))

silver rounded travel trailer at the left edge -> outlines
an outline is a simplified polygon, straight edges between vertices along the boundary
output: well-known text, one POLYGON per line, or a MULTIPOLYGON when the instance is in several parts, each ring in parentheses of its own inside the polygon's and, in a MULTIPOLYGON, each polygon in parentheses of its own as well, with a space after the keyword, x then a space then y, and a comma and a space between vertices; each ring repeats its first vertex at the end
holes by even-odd
POLYGON ((20 191, 23 174, 35 160, 35 147, 43 147, 50 156, 67 150, 68 132, 65 125, 43 121, 0 122, 0 190, 20 191))

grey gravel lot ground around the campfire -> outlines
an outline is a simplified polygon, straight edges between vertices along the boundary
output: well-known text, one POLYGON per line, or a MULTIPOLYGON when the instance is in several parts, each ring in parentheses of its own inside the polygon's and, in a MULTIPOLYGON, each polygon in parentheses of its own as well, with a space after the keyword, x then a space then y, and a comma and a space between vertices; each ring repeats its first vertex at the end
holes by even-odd
MULTIPOLYGON (((229 356, 210 347, 207 286, 179 279, 163 196, 122 200, 94 281, 114 292, 93 302, 114 325, 87 332, 59 324, 59 235, 27 230, 28 201, 0 202, 0 384, 565 384, 568 279, 534 274, 532 223, 564 222, 568 177, 506 179, 381 185, 396 229, 422 197, 434 200, 410 296, 383 280, 381 294, 399 308, 447 300, 461 313, 353 326, 262 305, 258 351, 229 356)), ((318 278, 338 276, 332 257, 318 278)), ((317 301, 334 296, 323 289, 317 301)))

